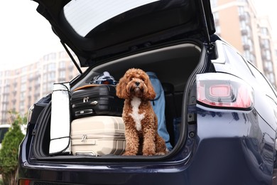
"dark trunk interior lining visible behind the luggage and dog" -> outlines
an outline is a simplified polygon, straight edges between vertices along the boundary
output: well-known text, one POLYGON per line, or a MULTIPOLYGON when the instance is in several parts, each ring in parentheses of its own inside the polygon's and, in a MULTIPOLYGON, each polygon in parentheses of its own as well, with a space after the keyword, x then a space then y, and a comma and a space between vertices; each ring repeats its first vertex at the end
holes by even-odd
MULTIPOLYGON (((98 65, 87 74, 87 78, 82 78, 72 89, 82 85, 87 85, 88 78, 109 71, 116 80, 119 80, 129 68, 141 68, 145 71, 156 73, 161 83, 172 86, 170 90, 165 90, 165 119, 167 129, 170 134, 170 143, 174 146, 175 141, 173 120, 181 117, 183 107, 183 92, 185 84, 193 70, 199 63, 201 48, 193 43, 183 43, 178 46, 168 46, 166 48, 156 49, 155 51, 146 51, 133 56, 113 60, 109 63, 98 65)), ((49 152, 50 121, 45 127, 43 147, 40 150, 46 156, 49 152), (48 133, 46 133, 48 132, 48 133)))

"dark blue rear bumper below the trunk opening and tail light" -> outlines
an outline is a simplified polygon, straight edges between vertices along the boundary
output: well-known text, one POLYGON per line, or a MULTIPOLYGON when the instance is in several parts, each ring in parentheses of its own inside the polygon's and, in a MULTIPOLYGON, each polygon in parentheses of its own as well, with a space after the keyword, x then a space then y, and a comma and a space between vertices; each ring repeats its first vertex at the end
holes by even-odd
POLYGON ((186 142, 163 162, 29 162, 21 149, 19 179, 33 184, 271 184, 274 138, 275 131, 254 111, 197 109, 197 134, 187 139, 192 149, 186 142))

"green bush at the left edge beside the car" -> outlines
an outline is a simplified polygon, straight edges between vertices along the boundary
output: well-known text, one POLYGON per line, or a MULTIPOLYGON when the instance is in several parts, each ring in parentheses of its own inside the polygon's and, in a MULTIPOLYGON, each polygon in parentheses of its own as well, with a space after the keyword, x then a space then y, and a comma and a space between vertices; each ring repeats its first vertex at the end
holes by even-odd
POLYGON ((21 132, 21 125, 26 123, 26 117, 18 113, 13 117, 13 123, 2 141, 0 149, 0 173, 3 184, 16 184, 16 173, 18 169, 18 147, 24 134, 21 132))

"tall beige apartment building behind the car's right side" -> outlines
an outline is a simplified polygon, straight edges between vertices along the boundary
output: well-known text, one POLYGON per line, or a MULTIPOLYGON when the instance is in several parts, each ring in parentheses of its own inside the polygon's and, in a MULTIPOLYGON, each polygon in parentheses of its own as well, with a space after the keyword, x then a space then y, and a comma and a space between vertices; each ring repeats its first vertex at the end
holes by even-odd
POLYGON ((217 33, 277 87, 271 26, 252 0, 211 0, 217 33))

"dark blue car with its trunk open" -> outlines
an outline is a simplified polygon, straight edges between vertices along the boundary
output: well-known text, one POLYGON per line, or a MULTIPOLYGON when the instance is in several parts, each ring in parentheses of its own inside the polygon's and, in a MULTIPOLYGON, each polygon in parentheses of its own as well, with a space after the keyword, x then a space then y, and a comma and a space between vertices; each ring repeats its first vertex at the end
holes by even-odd
POLYGON ((68 95, 104 71, 116 80, 129 68, 156 73, 173 149, 150 157, 78 155, 69 134, 59 138, 63 150, 52 150, 53 115, 60 115, 59 133, 70 132, 63 122, 72 121, 66 109, 53 112, 52 94, 29 112, 19 184, 276 183, 276 91, 214 34, 210 1, 35 1, 77 56, 76 67, 88 67, 65 85, 68 95))

